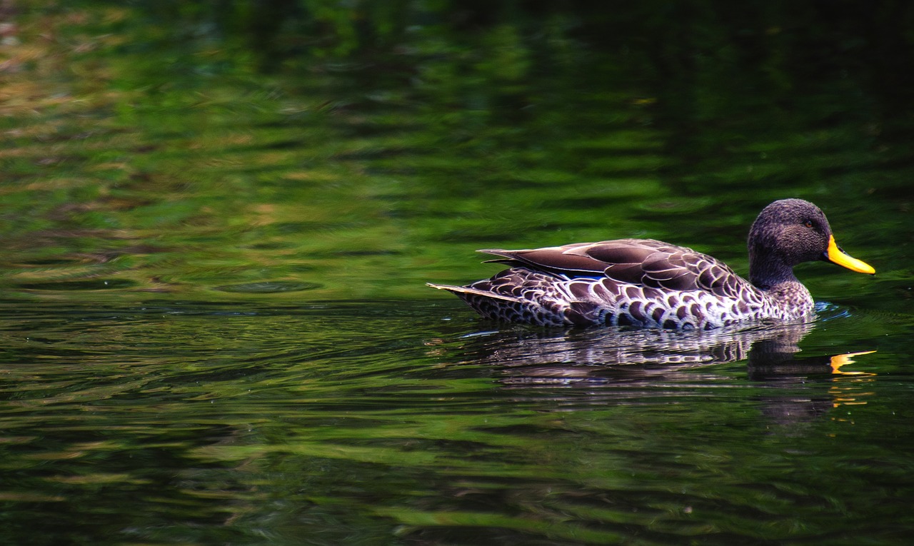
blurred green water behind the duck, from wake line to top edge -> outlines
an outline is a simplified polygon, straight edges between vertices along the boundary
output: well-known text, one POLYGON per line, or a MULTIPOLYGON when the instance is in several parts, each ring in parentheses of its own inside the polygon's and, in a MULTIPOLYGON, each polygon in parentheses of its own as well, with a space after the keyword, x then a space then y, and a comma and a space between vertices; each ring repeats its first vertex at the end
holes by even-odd
POLYGON ((745 271, 749 223, 788 196, 880 273, 909 267, 907 2, 5 14, 8 295, 441 298, 423 281, 491 272, 474 248, 622 236, 745 271))

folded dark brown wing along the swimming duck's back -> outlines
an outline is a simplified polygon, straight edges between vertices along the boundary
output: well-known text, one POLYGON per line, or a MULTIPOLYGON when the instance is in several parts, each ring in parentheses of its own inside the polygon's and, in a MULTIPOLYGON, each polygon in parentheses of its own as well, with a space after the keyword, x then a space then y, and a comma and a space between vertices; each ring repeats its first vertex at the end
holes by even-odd
MULTIPOLYGON (((527 250, 480 250, 491 260, 567 278, 606 278, 611 282, 665 291, 702 290, 737 298, 749 281, 727 264, 691 248, 654 239, 618 239, 527 250)), ((605 282, 605 280, 604 280, 605 282)))

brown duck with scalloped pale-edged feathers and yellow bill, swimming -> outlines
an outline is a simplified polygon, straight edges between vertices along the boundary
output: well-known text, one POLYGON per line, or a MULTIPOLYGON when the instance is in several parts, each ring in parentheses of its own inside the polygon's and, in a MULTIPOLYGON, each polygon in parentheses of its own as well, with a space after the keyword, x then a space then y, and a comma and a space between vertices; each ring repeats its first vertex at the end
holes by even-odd
POLYGON ((822 210, 802 199, 766 206, 749 229, 749 278, 715 257, 654 239, 523 250, 484 249, 508 268, 452 292, 485 319, 542 326, 712 330, 739 322, 810 320, 815 305, 793 274, 824 260, 876 270, 838 247, 822 210))

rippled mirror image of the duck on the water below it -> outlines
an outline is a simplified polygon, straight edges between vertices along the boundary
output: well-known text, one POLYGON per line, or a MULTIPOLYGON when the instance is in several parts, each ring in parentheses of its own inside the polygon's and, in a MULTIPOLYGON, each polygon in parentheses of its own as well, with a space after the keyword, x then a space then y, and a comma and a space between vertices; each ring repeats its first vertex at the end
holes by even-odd
MULTIPOLYGON (((776 421, 866 404, 860 383, 872 374, 850 364, 869 352, 803 356, 799 343, 814 327, 814 322, 710 332, 517 327, 474 334, 462 352, 470 362, 492 366, 499 382, 512 389, 577 385, 605 398, 619 393, 600 386, 643 387, 654 394, 664 386, 751 386, 741 369, 719 366, 745 361, 749 381, 763 383, 755 386, 783 389, 760 396, 765 414, 776 421)), ((637 393, 627 389, 624 395, 637 393)))

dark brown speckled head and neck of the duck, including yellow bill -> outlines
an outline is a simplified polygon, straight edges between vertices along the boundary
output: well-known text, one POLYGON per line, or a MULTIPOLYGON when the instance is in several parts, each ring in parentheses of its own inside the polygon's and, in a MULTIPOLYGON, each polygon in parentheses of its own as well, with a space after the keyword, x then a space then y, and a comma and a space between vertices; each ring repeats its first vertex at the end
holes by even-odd
POLYGON ((749 280, 760 288, 794 280, 793 266, 820 259, 860 273, 876 272, 834 243, 828 220, 809 201, 775 201, 749 229, 749 280))

